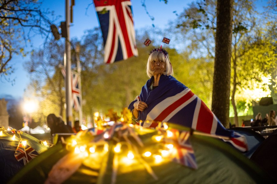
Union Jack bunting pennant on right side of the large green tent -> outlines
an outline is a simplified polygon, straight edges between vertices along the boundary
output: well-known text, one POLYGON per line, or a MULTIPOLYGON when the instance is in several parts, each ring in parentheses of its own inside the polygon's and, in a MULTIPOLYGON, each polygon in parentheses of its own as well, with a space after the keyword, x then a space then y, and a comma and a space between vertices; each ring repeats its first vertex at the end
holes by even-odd
POLYGON ((176 129, 170 129, 170 131, 173 132, 172 139, 177 143, 173 152, 171 152, 173 161, 197 169, 194 151, 189 141, 190 132, 176 129))

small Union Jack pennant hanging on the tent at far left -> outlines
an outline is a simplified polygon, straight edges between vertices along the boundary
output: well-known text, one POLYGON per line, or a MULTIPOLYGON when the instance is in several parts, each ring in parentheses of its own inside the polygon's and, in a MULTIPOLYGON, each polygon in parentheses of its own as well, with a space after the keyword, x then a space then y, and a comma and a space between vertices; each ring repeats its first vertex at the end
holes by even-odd
POLYGON ((22 141, 19 142, 16 152, 14 153, 14 156, 16 157, 16 160, 20 162, 22 165, 26 165, 30 160, 38 156, 38 152, 34 150, 32 147, 26 145, 23 146, 22 141))

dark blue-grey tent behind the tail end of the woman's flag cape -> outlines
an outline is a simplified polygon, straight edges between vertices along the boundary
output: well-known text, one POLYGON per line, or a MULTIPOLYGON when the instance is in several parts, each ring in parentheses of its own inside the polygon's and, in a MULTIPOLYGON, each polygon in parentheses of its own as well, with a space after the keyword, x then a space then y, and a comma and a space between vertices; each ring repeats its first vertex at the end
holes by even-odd
POLYGON ((231 128, 234 132, 244 135, 248 143, 248 151, 243 152, 247 158, 250 158, 256 149, 261 145, 265 138, 254 130, 243 128, 243 127, 234 127, 231 128))

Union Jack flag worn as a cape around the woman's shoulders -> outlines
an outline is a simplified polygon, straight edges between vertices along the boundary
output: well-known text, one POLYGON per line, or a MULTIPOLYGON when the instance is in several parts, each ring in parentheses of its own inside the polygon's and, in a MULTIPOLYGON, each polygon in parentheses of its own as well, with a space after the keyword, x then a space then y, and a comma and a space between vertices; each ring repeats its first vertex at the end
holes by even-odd
MULTIPOLYGON (((152 91, 149 86, 153 80, 154 77, 146 82, 139 95, 140 100, 148 105, 144 111, 139 111, 138 119, 135 119, 137 122, 141 121, 140 125, 155 128, 157 122, 175 123, 212 135, 229 137, 229 140, 223 141, 242 152, 247 151, 246 138, 225 129, 205 103, 188 87, 170 75, 161 75, 158 87, 152 91)), ((132 111, 135 103, 136 99, 128 109, 132 111)))

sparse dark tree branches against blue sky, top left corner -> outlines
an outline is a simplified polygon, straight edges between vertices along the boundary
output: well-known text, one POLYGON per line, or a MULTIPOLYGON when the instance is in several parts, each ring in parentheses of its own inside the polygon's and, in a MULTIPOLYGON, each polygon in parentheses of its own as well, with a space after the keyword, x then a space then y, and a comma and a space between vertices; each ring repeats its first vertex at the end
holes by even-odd
MULTIPOLYGON (((37 0, 0 1, 0 76, 8 82, 14 68, 9 64, 13 55, 26 56, 25 47, 34 35, 47 38, 51 21, 47 17, 51 12, 40 11, 37 0)), ((31 45, 32 46, 32 45, 31 45)))

